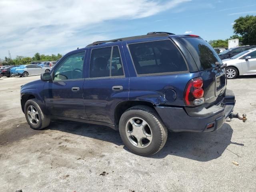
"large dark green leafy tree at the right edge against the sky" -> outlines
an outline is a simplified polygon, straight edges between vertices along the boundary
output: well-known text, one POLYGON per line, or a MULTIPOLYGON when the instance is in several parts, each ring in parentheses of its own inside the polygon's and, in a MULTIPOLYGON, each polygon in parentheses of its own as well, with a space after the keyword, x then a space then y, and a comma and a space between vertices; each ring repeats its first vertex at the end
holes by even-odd
POLYGON ((256 16, 246 15, 236 19, 233 25, 234 33, 240 34, 244 45, 256 45, 256 16))

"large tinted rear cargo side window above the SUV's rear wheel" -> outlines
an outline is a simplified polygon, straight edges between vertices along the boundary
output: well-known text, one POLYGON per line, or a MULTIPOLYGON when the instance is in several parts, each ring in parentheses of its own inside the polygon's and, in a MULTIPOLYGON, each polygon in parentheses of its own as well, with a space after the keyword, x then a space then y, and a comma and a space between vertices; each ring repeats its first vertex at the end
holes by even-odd
POLYGON ((138 75, 187 71, 186 62, 171 40, 129 44, 138 75))

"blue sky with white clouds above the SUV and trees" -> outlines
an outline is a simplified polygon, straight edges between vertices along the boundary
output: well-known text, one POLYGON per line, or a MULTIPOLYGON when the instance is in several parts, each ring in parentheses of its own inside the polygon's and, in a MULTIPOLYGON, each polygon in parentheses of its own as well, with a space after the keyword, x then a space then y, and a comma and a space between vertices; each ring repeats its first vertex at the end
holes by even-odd
POLYGON ((153 31, 234 34, 234 20, 256 15, 255 0, 0 0, 0 58, 66 54, 98 40, 153 31))

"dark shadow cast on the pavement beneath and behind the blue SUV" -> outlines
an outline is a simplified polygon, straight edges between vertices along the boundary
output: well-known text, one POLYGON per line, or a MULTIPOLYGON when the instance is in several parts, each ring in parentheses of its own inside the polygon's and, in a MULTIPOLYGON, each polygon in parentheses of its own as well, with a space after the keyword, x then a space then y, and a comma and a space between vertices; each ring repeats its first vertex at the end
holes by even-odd
MULTIPOLYGON (((119 132, 106 126, 58 120, 52 122, 48 128, 123 145, 119 132)), ((231 142, 232 133, 232 128, 226 123, 215 132, 168 132, 168 140, 164 148, 149 158, 174 155, 201 162, 210 161, 221 156, 229 144, 243 145, 231 142)), ((124 150, 128 149, 124 146, 124 150)))

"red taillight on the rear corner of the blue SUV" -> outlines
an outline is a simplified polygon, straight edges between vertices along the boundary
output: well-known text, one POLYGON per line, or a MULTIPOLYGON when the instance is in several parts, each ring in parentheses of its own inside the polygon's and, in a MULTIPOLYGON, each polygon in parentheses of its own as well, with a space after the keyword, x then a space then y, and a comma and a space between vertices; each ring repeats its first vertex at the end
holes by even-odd
POLYGON ((198 106, 204 103, 204 88, 201 77, 192 79, 186 86, 184 102, 186 106, 198 106))

